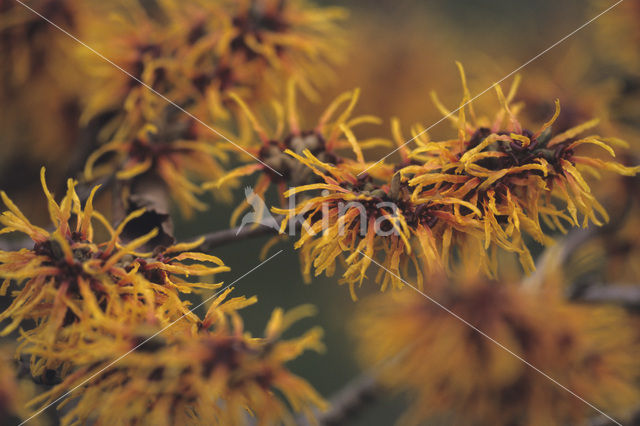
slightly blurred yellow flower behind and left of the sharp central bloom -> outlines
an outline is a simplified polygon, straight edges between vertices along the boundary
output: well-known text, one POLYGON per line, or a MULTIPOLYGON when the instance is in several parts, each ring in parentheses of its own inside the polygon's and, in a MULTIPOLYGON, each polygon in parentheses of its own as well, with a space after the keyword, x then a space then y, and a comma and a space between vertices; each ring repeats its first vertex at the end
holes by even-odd
MULTIPOLYGON (((264 197, 269 187, 275 185, 280 195, 280 204, 284 206, 286 202, 283 195, 287 186, 300 186, 318 180, 307 165, 298 161, 297 157, 288 155, 287 150, 295 154, 302 154, 308 150, 319 161, 337 164, 345 171, 359 171, 365 168, 362 150, 387 143, 383 139, 356 140, 352 131, 353 127, 363 123, 377 124, 379 122, 376 117, 369 115, 351 117, 358 101, 358 90, 348 91, 338 96, 321 114, 315 127, 306 130, 301 127, 299 122, 293 80, 289 81, 287 92, 286 108, 280 103, 273 103, 277 124, 271 136, 270 132, 266 130, 266 126, 256 118, 245 102, 239 96, 231 94, 260 139, 259 145, 249 145, 247 151, 262 163, 247 164, 231 170, 221 179, 205 184, 205 188, 219 188, 236 178, 260 173, 253 192, 257 196, 264 197), (344 110, 337 115, 338 108, 343 104, 346 104, 344 110), (356 160, 344 156, 343 153, 346 150, 355 153, 356 160)), ((236 208, 231 216, 232 225, 248 207, 249 204, 245 200, 236 208)))

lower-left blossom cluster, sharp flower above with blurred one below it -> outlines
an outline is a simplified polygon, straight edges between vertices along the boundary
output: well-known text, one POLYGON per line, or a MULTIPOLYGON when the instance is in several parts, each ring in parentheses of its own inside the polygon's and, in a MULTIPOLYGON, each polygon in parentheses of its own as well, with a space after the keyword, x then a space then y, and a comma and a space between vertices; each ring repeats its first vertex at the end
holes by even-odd
POLYGON ((203 424, 212 419, 242 424, 248 413, 277 423, 290 419, 287 404, 309 415, 310 407, 324 407, 313 388, 283 365, 306 349, 322 348, 318 329, 299 339, 279 340, 292 321, 309 314, 308 307, 287 315, 276 310, 265 337, 254 339, 243 332, 235 311, 256 299, 225 300, 231 291, 227 289, 200 319, 180 295, 215 290, 221 284, 206 277, 229 270, 215 256, 190 251, 201 239, 140 253, 137 249, 157 234, 156 229, 126 244, 119 237, 144 210, 131 213, 113 229, 93 209, 98 187, 83 206, 76 182, 70 179, 58 203, 46 185, 44 168, 41 179, 53 231, 33 225, 0 193, 9 209, 0 216, 0 233, 23 232, 34 242, 30 250, 0 251, 2 294, 15 287, 13 302, 0 314, 0 320, 11 320, 2 334, 25 320, 35 321, 35 327, 21 330, 18 354, 31 355, 34 376, 53 371, 62 377, 52 394, 72 389, 113 359, 140 349, 115 371, 92 379, 64 424, 95 419, 96 414, 105 422, 144 418, 172 424, 172 418, 200 417, 203 424), (94 220, 109 234, 102 242, 95 238, 94 220), (194 282, 186 277, 205 279, 194 282), (173 339, 166 346, 136 347, 147 337, 144 333, 159 333, 176 323, 179 326, 163 336, 173 339), (133 402, 132 393, 138 395, 133 402), (130 404, 123 406, 125 402, 130 404))

